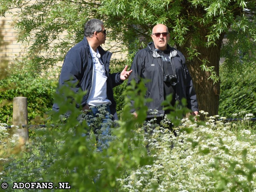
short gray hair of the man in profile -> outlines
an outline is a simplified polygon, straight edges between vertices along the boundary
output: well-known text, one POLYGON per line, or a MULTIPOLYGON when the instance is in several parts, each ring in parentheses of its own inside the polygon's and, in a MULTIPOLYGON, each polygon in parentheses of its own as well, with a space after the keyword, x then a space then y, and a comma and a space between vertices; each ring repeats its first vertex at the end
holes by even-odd
POLYGON ((103 22, 99 19, 91 19, 84 25, 84 36, 92 37, 94 31, 102 31, 103 22))

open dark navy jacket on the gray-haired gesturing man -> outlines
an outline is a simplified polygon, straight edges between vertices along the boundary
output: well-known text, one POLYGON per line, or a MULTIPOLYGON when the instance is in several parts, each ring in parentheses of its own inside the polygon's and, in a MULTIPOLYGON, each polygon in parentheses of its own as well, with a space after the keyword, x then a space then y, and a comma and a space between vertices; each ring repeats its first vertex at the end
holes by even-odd
MULTIPOLYGON (((123 81, 120 79, 120 73, 109 73, 109 61, 112 53, 104 51, 101 46, 97 47, 97 49, 101 55, 101 59, 104 63, 108 77, 107 98, 112 103, 110 105, 111 114, 115 117, 115 119, 117 119, 113 87, 123 83, 123 81)), ((79 89, 82 89, 82 91, 87 91, 83 97, 82 102, 77 103, 77 108, 84 107, 86 105, 92 86, 92 70, 93 62, 90 53, 90 47, 86 37, 84 37, 82 41, 80 41, 68 51, 62 65, 59 79, 59 87, 69 83, 75 85, 70 87, 70 89, 72 89, 74 92, 78 92, 79 89)), ((58 111, 59 107, 56 103, 54 103, 52 109, 58 111)))

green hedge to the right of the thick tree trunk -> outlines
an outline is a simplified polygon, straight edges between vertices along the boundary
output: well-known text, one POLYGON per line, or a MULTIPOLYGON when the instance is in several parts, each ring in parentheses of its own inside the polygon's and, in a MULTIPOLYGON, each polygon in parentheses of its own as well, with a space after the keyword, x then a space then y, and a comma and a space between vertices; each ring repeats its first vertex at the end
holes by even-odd
MULTIPOLYGON (((256 114, 256 71, 246 70, 239 76, 221 75, 219 115, 234 118, 240 111, 256 114)), ((235 117, 236 118, 236 117, 235 117)))

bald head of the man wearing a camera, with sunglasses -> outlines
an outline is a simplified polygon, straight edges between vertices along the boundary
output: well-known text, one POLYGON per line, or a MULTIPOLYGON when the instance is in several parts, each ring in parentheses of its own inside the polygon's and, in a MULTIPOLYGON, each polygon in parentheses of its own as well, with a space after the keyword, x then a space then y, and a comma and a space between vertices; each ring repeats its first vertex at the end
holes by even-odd
POLYGON ((170 34, 168 28, 165 25, 157 24, 152 29, 151 37, 157 49, 160 49, 162 51, 166 50, 168 41, 170 39, 170 34))

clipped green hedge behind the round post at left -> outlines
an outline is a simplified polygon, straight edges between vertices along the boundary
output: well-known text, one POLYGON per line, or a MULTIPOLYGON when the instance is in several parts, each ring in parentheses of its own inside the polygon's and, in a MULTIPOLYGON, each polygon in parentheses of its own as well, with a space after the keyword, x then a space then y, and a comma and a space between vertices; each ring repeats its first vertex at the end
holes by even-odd
POLYGON ((12 100, 22 96, 28 98, 28 123, 44 124, 40 117, 44 118, 45 113, 52 109, 56 86, 53 79, 29 73, 12 74, 0 80, 0 121, 12 124, 12 100))

